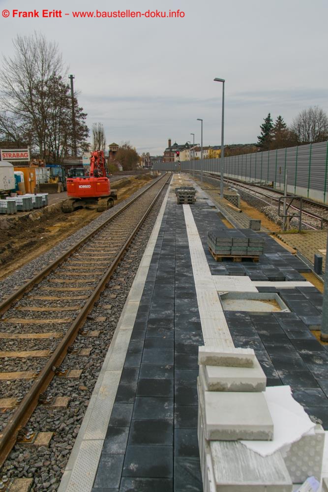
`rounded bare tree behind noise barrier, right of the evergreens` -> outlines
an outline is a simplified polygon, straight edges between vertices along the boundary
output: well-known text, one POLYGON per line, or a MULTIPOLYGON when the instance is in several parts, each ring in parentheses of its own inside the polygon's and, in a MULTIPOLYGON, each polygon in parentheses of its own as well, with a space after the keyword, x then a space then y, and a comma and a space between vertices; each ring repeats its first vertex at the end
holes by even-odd
POLYGON ((328 139, 328 116, 318 106, 303 109, 293 120, 291 130, 299 144, 324 142, 328 139))

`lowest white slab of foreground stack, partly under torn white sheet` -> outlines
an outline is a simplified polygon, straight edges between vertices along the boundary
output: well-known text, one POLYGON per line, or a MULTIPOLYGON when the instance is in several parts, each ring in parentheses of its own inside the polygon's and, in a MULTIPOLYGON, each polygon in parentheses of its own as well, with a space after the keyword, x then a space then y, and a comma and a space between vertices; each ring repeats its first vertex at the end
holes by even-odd
POLYGON ((293 483, 279 452, 262 457, 239 442, 211 441, 216 492, 291 492, 293 483))

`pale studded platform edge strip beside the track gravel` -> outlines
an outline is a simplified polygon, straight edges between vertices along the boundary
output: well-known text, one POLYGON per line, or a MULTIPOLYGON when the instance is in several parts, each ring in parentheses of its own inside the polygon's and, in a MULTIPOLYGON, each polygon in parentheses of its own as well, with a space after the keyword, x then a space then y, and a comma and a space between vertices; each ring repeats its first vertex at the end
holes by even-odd
POLYGON ((58 492, 90 492, 92 489, 169 191, 170 186, 119 318, 58 492))

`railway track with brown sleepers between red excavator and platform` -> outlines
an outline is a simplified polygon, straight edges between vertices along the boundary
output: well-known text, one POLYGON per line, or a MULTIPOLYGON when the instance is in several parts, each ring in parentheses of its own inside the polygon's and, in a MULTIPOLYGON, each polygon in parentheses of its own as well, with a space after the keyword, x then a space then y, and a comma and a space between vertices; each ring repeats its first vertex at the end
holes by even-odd
POLYGON ((27 443, 35 439, 24 426, 38 403, 67 405, 64 397, 47 396, 46 389, 55 375, 74 377, 60 368, 67 353, 89 355, 88 349, 75 350, 74 340, 79 334, 97 337, 96 330, 83 331, 84 323, 170 177, 150 184, 0 303, 0 381, 11 383, 0 399, 0 466, 17 437, 27 443))

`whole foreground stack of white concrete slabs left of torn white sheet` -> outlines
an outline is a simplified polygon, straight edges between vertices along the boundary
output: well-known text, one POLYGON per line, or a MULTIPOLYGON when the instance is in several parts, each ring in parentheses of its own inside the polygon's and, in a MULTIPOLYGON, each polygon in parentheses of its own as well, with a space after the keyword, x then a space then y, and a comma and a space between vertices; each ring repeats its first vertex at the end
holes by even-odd
POLYGON ((266 458, 239 439, 271 440, 266 376, 252 349, 199 347, 198 439, 204 492, 291 492, 279 452, 266 458))

